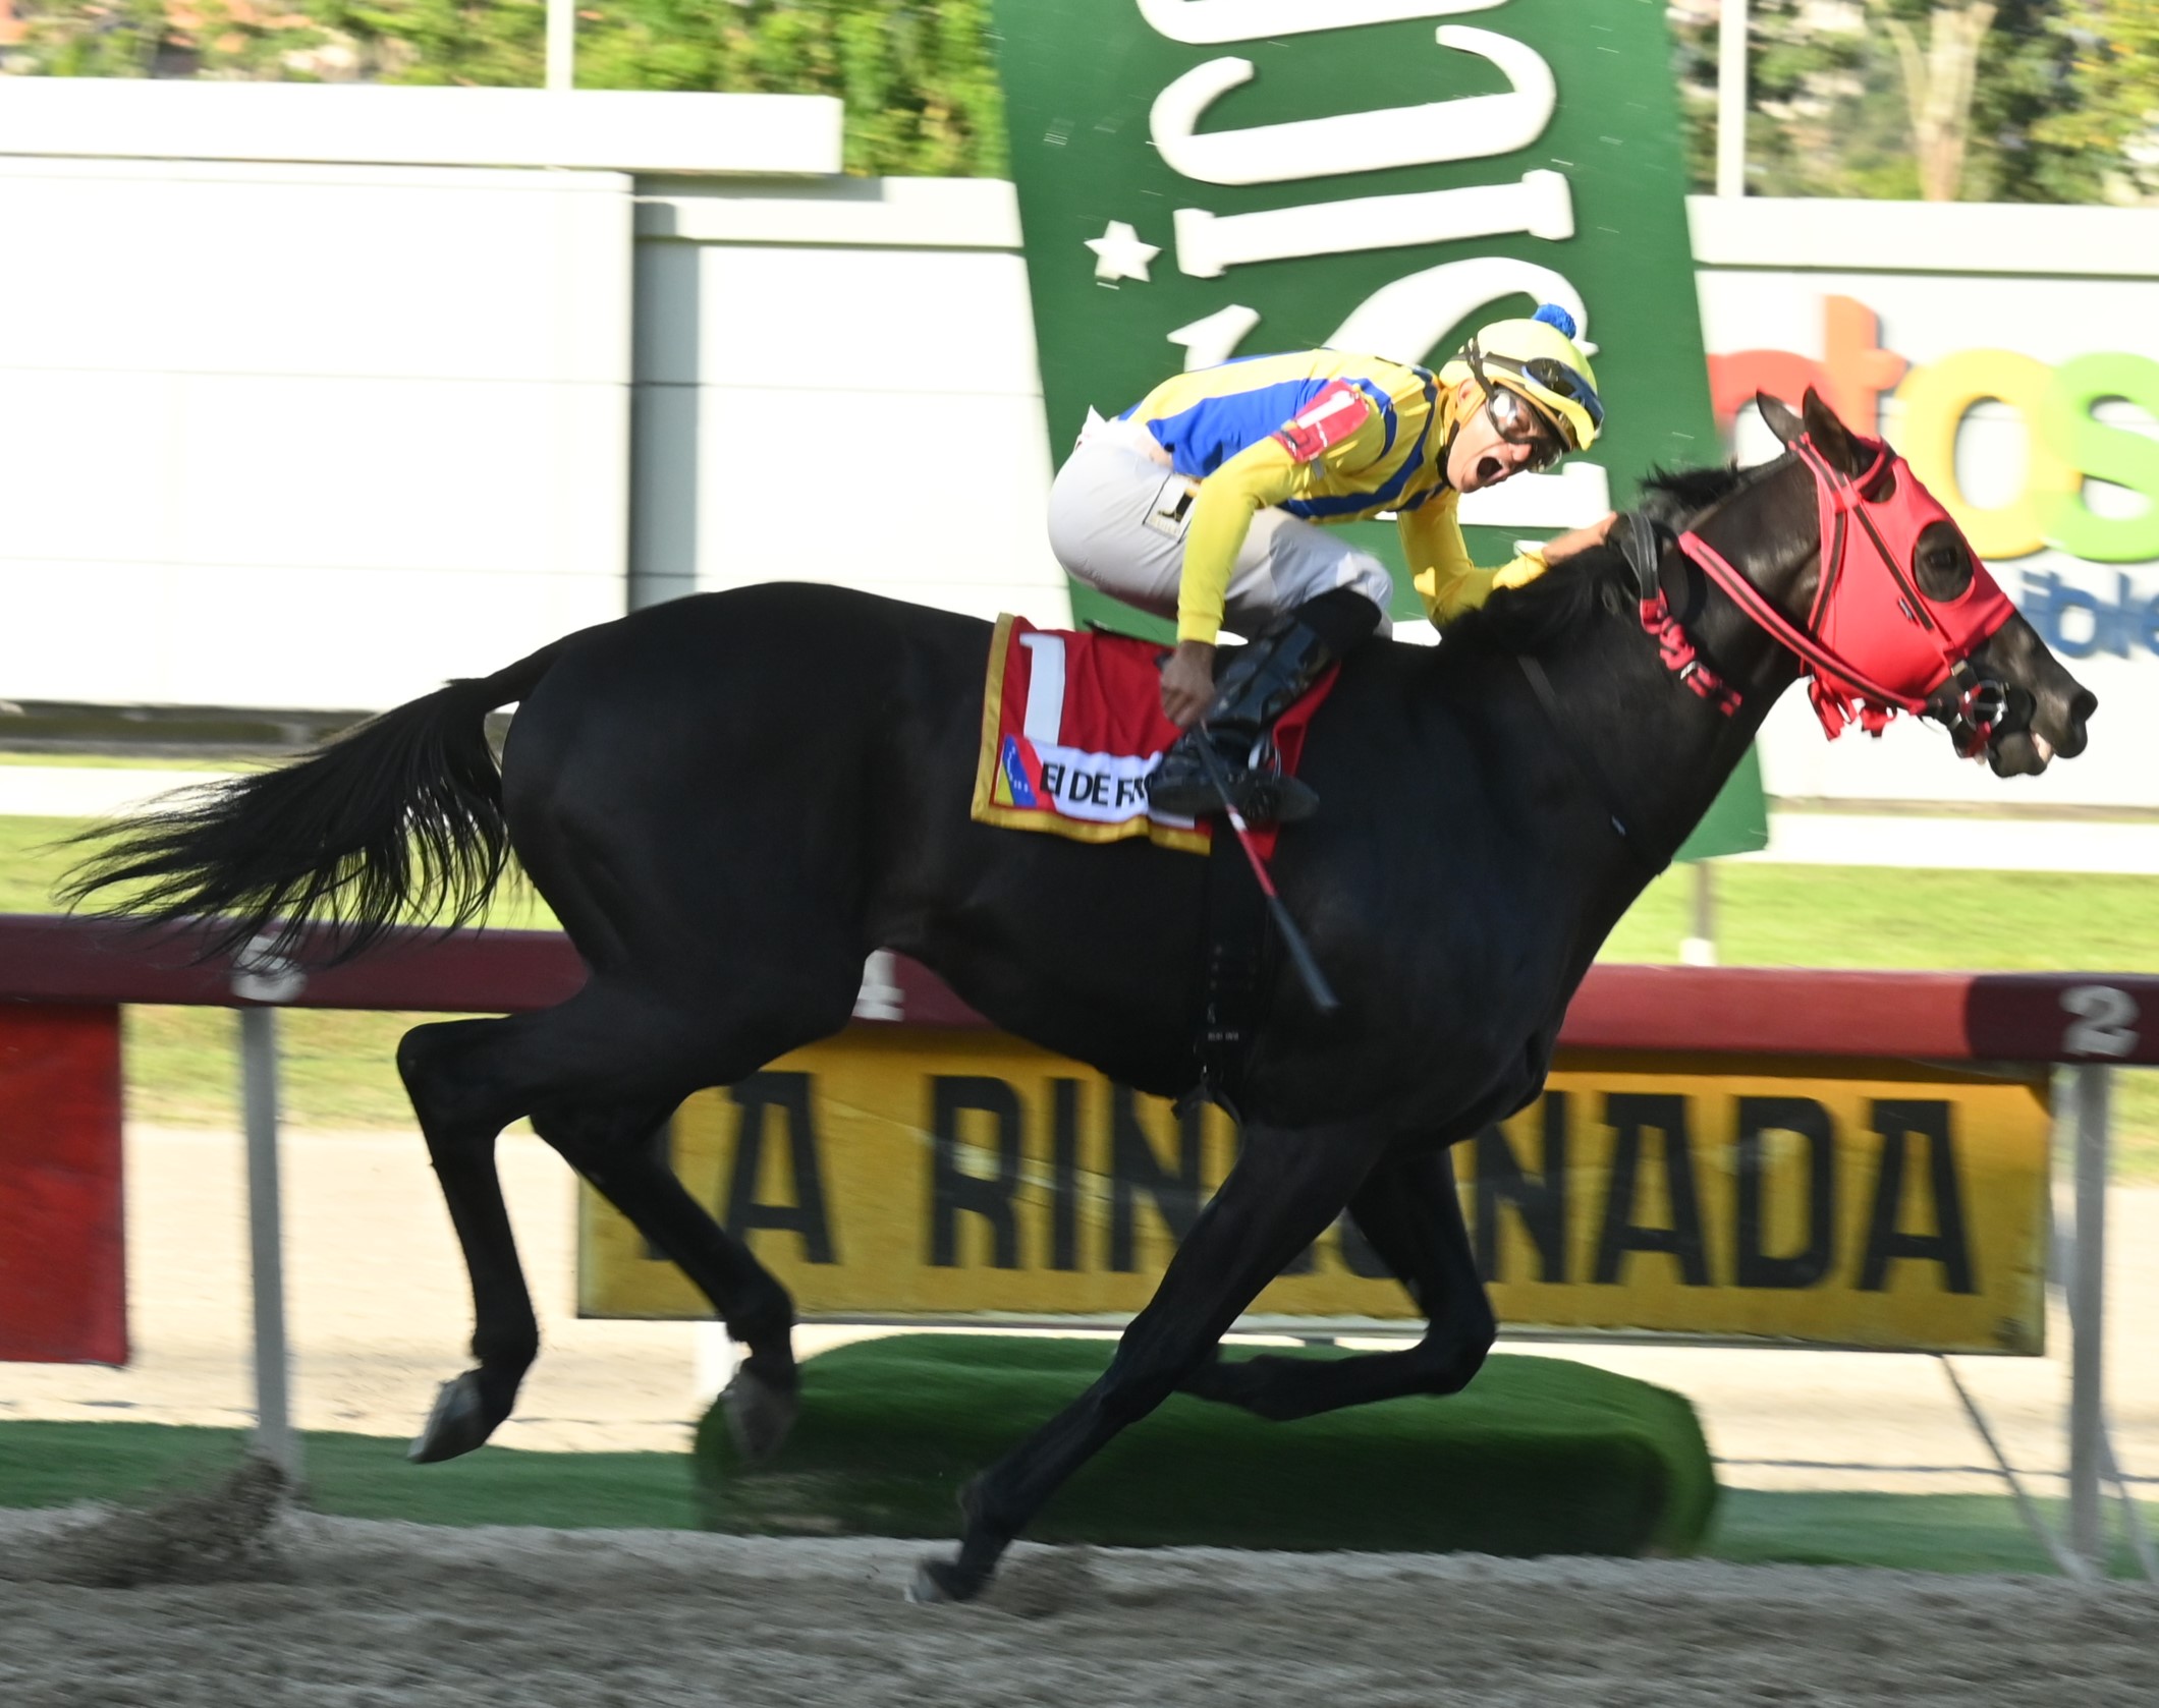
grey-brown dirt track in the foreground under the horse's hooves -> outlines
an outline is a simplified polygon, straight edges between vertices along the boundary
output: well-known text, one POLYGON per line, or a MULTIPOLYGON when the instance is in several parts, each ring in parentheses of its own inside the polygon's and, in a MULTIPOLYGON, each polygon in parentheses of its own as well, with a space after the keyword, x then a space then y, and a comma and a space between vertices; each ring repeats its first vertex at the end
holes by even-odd
MULTIPOLYGON (((56 1514, 0 1518, 35 1570, 56 1514)), ((255 1583, 0 1581, 9 1708, 2159 1702, 2159 1594, 2042 1579, 1021 1548, 902 1600, 920 1544, 296 1520, 255 1583)))

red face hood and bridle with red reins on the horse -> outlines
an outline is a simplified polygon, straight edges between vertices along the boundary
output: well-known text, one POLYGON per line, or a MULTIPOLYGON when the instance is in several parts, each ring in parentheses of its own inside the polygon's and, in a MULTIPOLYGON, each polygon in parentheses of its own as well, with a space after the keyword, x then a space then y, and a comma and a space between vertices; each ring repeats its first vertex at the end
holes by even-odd
MULTIPOLYGON (((1932 600, 1919 591, 1913 569, 1919 535, 1934 524, 1954 528, 1956 522, 1896 451, 1878 440, 1857 444, 1874 455, 1852 477, 1835 468, 1811 436, 1792 442, 1814 474, 1822 541, 1822 574, 1805 628, 1777 610, 1693 528, 1675 543, 1755 628, 1798 656, 1801 675, 1809 679, 1807 694, 1831 740, 1855 722, 1880 735, 1898 712, 1909 712, 1943 722, 1958 755, 1975 759, 2008 710, 2008 688, 1982 679, 1971 653, 2017 608, 1975 554, 1971 584, 1956 597, 1932 600), (1861 539, 1872 554, 1852 550, 1861 539)), ((1647 518, 1630 513, 1626 520, 1630 533, 1621 550, 1634 567, 1643 630, 1656 640, 1667 671, 1727 718, 1734 716, 1744 697, 1701 660, 1665 597, 1656 574, 1662 539, 1647 518)), ((1969 543, 1965 550, 1969 554, 1969 543)))

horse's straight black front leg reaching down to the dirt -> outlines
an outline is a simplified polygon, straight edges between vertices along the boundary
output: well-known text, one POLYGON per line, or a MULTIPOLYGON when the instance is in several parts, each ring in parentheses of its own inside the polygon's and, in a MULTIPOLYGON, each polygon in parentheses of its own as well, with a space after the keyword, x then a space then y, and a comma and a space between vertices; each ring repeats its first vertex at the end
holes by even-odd
POLYGON ((1362 1128, 1248 1126, 1222 1190, 1200 1212, 1101 1378, 976 1477, 961 1497, 954 1559, 915 1572, 915 1600, 969 1600, 1043 1503, 1127 1423, 1177 1391, 1282 1266, 1343 1210, 1384 1149, 1362 1128))

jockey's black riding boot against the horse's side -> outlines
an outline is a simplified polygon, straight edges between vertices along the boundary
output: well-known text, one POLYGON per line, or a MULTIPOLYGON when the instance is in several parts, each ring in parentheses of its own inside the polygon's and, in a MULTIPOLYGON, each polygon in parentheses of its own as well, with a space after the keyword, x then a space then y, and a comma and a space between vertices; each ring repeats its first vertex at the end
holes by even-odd
POLYGON ((1289 617, 1228 653, 1216 697, 1198 725, 1162 755, 1146 798, 1174 817, 1222 811, 1222 789, 1200 757, 1207 742, 1222 759, 1228 798, 1246 824, 1295 824, 1319 809, 1319 796, 1282 776, 1267 731, 1341 653, 1308 623, 1289 617))

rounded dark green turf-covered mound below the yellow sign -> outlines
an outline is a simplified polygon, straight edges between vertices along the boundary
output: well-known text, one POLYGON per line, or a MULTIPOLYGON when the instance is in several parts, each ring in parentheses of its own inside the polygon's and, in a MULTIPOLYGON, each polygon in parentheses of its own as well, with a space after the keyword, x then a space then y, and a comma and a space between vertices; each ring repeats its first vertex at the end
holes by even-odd
MULTIPOLYGON (((1108 1365, 1105 1339, 894 1335, 803 1365, 782 1454, 697 1432, 712 1529, 952 1531, 961 1484, 1108 1365)), ((1295 1356, 1343 1356, 1302 1352, 1295 1356)), ((1695 1408, 1563 1359, 1490 1359, 1466 1393, 1267 1423, 1172 1397, 1028 1527, 1041 1542, 1492 1555, 1693 1553, 1716 1505, 1695 1408)))

